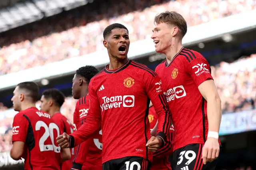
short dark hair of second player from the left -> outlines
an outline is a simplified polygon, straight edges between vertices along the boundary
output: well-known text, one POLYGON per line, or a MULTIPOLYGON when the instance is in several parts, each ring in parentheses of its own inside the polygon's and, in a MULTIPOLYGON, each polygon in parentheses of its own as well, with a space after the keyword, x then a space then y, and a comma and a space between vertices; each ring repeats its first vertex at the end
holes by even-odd
POLYGON ((58 89, 47 89, 45 90, 42 95, 44 98, 54 100, 54 104, 58 107, 61 107, 65 101, 65 95, 58 89))

